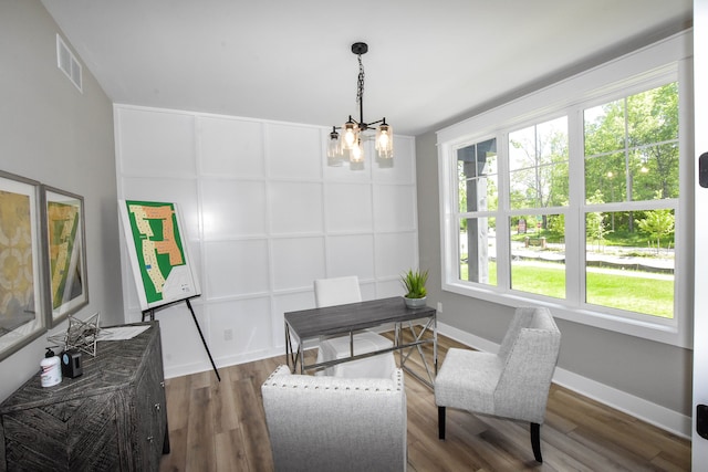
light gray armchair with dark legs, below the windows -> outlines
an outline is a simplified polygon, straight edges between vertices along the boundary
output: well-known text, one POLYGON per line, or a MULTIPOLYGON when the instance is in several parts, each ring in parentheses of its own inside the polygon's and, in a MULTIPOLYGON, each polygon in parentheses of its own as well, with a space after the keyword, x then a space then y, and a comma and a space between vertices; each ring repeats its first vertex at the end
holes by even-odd
POLYGON ((555 370, 561 333, 544 307, 517 308, 498 354, 448 350, 435 380, 440 439, 445 408, 529 421, 531 445, 541 457, 541 424, 555 370))

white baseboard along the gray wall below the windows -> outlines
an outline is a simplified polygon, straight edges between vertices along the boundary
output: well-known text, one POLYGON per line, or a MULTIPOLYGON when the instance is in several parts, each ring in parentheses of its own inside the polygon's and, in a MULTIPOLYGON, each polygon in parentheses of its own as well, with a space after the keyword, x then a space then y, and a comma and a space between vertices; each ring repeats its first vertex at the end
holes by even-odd
MULTIPOLYGON (((439 321, 438 333, 478 350, 487 353, 497 353, 499 350, 498 344, 446 325, 439 321)), ((691 418, 669 410, 666 407, 662 407, 660 405, 653 403, 643 398, 560 367, 555 369, 553 381, 562 387, 600 401, 611 408, 631 415, 648 422, 649 424, 654 424, 657 428, 662 428, 673 434, 686 439, 691 438, 691 418)))

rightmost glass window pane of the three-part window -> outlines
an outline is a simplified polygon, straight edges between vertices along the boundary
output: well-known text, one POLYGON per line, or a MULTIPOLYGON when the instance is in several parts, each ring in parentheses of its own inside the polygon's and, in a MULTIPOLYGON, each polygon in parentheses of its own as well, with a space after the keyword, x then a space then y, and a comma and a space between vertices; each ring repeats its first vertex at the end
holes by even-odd
POLYGON ((585 109, 583 137, 585 301, 674 318, 678 84, 585 109))

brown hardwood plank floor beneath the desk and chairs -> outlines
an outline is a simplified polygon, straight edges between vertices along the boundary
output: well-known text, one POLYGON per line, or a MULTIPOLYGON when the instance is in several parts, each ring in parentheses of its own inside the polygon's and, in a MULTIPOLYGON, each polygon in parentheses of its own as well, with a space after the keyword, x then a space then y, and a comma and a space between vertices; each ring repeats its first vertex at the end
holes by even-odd
MULTIPOLYGON (((450 347, 466 346, 439 336, 439 365, 450 347)), ((406 365, 421 369, 416 360, 406 365)), ((221 368, 221 382, 211 370, 168 379, 171 452, 160 471, 271 471, 260 386, 280 364, 284 356, 221 368)), ((413 472, 690 470, 690 441, 556 385, 541 427, 543 464, 533 460, 528 423, 448 408, 439 441, 433 391, 406 375, 406 395, 413 472)))

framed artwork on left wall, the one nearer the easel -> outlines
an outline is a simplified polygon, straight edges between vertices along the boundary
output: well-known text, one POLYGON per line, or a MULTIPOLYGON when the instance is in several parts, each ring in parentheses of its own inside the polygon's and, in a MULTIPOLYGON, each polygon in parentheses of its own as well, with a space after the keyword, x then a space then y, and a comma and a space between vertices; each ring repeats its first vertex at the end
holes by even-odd
POLYGON ((48 326, 56 326, 88 304, 84 199, 42 186, 48 326))

